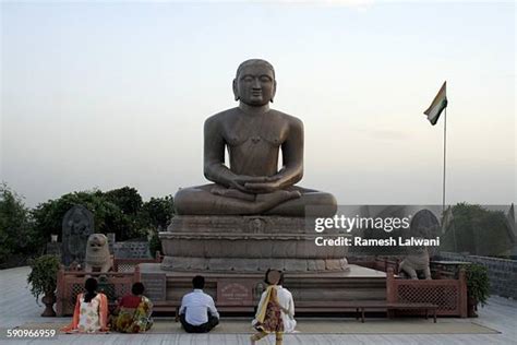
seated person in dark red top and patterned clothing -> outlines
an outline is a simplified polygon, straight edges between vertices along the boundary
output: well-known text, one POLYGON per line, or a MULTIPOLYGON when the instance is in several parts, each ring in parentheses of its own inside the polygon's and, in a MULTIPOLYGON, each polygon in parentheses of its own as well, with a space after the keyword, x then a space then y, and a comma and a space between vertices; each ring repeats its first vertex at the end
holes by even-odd
POLYGON ((134 283, 131 294, 123 296, 111 318, 111 329, 122 333, 142 333, 153 326, 153 302, 145 297, 142 283, 134 283))

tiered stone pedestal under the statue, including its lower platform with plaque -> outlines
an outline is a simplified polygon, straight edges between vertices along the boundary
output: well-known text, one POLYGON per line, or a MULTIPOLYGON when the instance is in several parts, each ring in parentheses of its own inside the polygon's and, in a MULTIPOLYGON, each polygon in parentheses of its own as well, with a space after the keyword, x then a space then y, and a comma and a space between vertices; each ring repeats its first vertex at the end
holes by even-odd
POLYGON ((267 287, 267 269, 285 272, 284 285, 294 305, 309 304, 318 311, 333 301, 385 300, 384 272, 349 265, 346 246, 315 243, 316 237, 347 236, 338 230, 318 234, 305 218, 177 216, 159 234, 163 263, 141 264, 141 272, 165 273, 165 304, 179 302, 192 290, 192 277, 201 274, 206 279, 204 290, 223 312, 252 312, 267 287))

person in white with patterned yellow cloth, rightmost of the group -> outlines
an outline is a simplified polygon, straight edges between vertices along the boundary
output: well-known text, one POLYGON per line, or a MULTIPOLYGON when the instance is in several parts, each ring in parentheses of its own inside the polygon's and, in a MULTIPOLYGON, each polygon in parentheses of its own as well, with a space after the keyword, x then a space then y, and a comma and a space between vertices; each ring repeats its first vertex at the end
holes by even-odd
POLYGON ((265 282, 268 285, 262 293, 255 319, 252 325, 258 331, 251 336, 251 344, 254 345, 268 333, 275 333, 276 345, 282 343, 284 333, 294 331, 297 321, 294 320, 294 301, 291 293, 282 287, 284 273, 276 270, 267 270, 265 282))

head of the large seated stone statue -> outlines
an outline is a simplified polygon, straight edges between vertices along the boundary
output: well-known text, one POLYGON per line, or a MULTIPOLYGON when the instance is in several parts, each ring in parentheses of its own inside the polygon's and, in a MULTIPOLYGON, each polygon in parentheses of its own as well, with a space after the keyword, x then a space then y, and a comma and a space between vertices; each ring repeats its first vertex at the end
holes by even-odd
POLYGON ((237 69, 233 80, 233 95, 236 100, 260 107, 273 103, 276 92, 275 69, 261 59, 251 59, 242 62, 237 69))

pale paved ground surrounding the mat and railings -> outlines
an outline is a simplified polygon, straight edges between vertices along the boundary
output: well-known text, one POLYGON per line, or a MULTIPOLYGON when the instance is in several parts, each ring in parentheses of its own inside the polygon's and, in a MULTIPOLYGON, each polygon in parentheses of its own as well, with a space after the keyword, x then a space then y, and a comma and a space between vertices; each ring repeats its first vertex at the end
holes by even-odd
MULTIPOLYGON (((0 271, 0 326, 4 329, 25 323, 60 322, 65 318, 40 318, 41 306, 37 306, 27 289, 28 267, 0 271)), ((517 344, 517 301, 492 297, 480 309, 474 322, 497 330, 498 334, 288 334, 286 345, 296 344, 517 344)), ((466 319, 438 319, 438 322, 471 322, 466 319)), ((425 321, 422 321, 425 322, 425 321)), ((371 322, 372 326, 374 322, 371 322)), ((408 322, 408 326, 410 323, 408 322)), ((117 334, 108 335, 59 335, 51 341, 5 341, 0 344, 249 344, 247 334, 117 334)), ((264 340, 258 344, 274 344, 264 340)))

